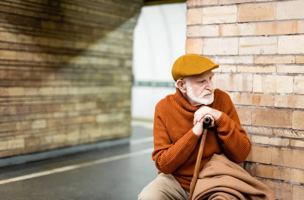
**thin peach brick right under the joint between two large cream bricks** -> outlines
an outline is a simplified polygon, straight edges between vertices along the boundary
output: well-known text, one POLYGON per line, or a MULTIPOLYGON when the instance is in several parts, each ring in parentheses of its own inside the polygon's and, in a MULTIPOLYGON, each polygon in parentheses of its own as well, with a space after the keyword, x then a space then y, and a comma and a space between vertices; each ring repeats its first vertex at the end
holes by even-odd
POLYGON ((254 64, 292 64, 294 56, 255 56, 254 64))

